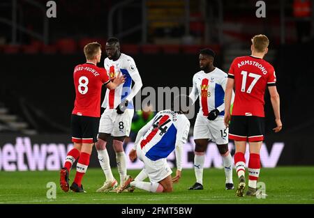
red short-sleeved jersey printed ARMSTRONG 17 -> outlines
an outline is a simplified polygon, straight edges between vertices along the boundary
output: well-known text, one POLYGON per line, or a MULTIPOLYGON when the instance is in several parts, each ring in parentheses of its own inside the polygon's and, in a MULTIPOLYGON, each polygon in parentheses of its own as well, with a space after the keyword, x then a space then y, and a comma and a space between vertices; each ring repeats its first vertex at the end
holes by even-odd
POLYGON ((228 77, 234 79, 234 116, 264 117, 264 93, 267 86, 276 86, 274 67, 254 56, 234 59, 228 77))

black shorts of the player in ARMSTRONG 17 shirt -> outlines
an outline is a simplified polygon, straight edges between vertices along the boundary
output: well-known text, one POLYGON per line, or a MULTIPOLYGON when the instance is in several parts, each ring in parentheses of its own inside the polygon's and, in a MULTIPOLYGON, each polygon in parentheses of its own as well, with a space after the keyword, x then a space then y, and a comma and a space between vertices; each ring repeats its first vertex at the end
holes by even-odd
POLYGON ((231 116, 229 139, 263 141, 264 118, 260 116, 231 116))

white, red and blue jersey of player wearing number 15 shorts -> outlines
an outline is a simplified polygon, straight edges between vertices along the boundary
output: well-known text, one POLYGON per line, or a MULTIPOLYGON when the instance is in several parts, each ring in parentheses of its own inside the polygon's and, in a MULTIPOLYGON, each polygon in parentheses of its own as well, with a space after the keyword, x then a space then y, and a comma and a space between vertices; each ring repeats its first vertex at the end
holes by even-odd
POLYGON ((227 74, 219 68, 209 73, 201 70, 194 75, 193 88, 189 97, 194 103, 200 96, 200 113, 203 116, 208 116, 209 112, 214 109, 220 111, 219 116, 225 115, 226 84, 227 74))

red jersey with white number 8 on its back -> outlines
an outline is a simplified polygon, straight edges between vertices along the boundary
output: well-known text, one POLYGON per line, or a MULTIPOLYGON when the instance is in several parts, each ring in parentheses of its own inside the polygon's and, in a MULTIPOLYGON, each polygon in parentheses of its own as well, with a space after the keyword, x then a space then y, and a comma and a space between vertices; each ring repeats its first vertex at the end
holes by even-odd
POLYGON ((84 63, 74 68, 75 103, 72 114, 78 116, 100 117, 101 86, 110 79, 104 68, 93 63, 84 63))

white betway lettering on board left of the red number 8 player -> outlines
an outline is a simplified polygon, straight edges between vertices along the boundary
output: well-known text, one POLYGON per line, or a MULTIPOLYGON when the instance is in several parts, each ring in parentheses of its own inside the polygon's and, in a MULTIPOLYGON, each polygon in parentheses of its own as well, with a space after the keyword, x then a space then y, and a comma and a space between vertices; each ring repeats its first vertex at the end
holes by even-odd
POLYGON ((32 146, 29 137, 17 137, 15 145, 6 143, 0 148, 0 170, 59 170, 72 148, 73 143, 67 146, 63 143, 35 143, 32 146))

